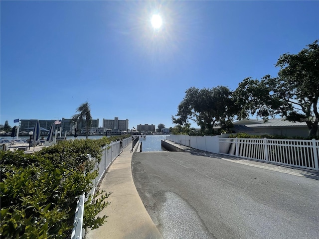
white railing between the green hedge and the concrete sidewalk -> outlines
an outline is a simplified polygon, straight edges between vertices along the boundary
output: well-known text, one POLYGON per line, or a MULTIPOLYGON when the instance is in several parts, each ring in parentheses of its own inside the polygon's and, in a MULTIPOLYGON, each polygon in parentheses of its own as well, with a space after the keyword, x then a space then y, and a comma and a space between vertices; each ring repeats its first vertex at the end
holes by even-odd
MULTIPOLYGON (((131 142, 131 138, 123 139, 123 148, 128 146, 131 142)), ((98 162, 96 158, 92 158, 90 154, 88 154, 89 160, 95 162, 94 168, 92 171, 98 170, 99 175, 93 180, 93 188, 90 191, 90 194, 94 194, 96 191, 97 185, 102 180, 104 174, 107 169, 110 167, 111 163, 116 159, 117 156, 121 153, 120 141, 111 142, 109 145, 103 147, 101 161, 98 162)), ((80 195, 75 211, 74 216, 74 228, 72 230, 71 239, 82 239, 84 238, 83 233, 83 212, 84 212, 84 202, 86 201, 85 195, 80 195)))

